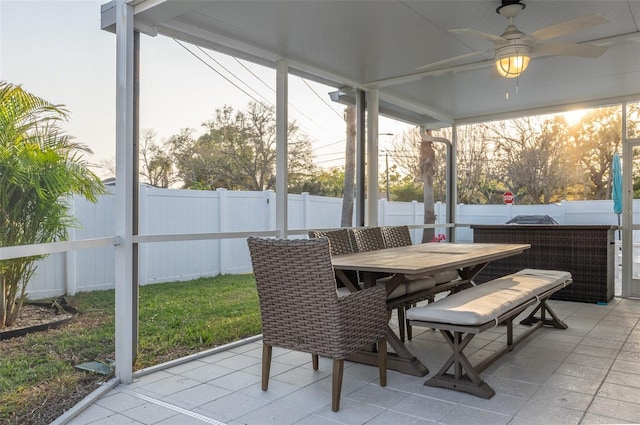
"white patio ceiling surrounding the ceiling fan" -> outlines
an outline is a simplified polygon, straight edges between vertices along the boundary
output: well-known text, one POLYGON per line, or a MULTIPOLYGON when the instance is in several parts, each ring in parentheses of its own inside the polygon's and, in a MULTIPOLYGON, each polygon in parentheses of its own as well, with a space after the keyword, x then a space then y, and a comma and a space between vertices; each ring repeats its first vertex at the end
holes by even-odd
MULTIPOLYGON (((499 35, 500 1, 189 1, 133 0, 136 27, 274 67, 336 88, 379 88, 380 98, 436 127, 640 100, 640 0, 524 0, 515 25, 529 33, 597 13, 608 23, 553 41, 592 42, 597 59, 536 57, 516 81, 491 78, 492 54, 417 75, 416 68, 486 50, 492 43, 449 33, 472 28, 499 35), (454 66, 455 65, 455 66, 454 66), (509 92, 509 99, 505 93, 509 92)), ((114 2, 103 6, 113 30, 114 2)))

